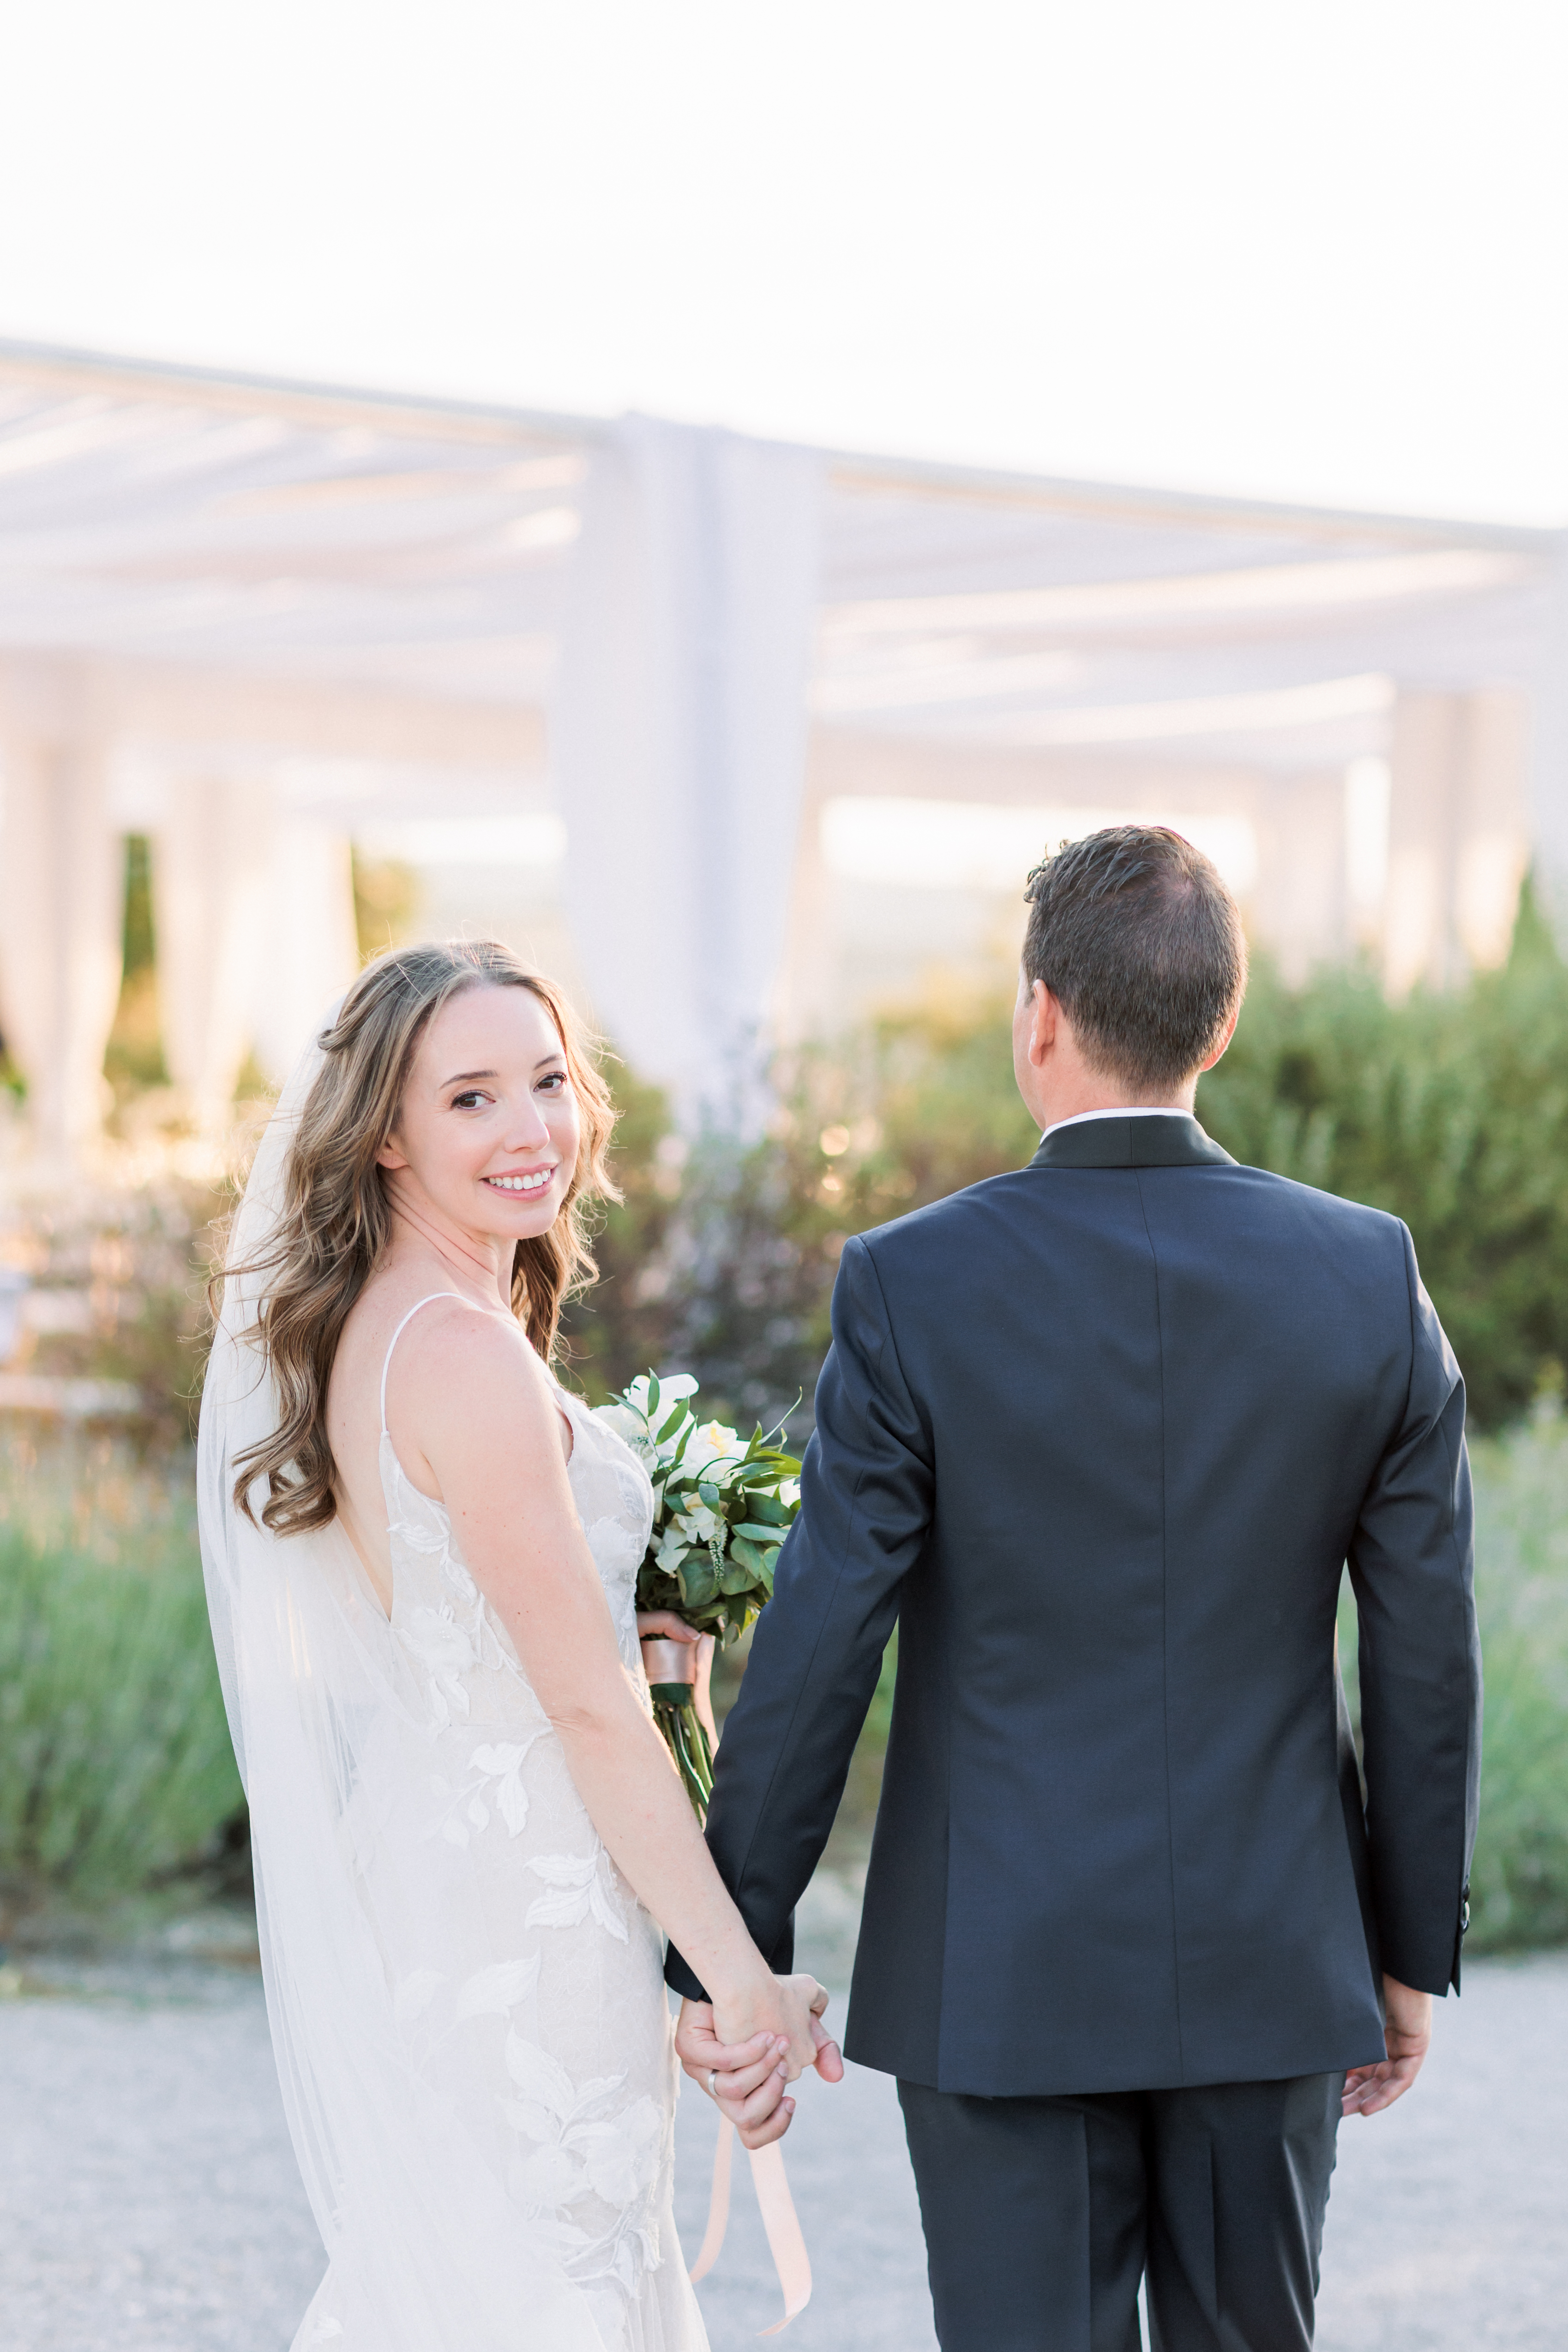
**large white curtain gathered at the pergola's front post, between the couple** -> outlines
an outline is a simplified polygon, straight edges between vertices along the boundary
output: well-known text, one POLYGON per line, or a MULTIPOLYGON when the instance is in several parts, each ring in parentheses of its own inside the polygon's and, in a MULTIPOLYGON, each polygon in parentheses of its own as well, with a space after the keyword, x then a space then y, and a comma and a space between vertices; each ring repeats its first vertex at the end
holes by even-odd
POLYGON ((595 1011, 686 1108, 776 1011, 806 762, 816 452, 632 416, 595 456, 552 760, 595 1011))

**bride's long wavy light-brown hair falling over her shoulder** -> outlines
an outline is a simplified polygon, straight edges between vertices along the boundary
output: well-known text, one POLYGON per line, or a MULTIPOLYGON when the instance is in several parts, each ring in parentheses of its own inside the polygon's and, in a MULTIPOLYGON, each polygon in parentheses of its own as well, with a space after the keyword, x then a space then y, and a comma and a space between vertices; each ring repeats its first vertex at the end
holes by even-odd
POLYGON ((581 1143, 562 1211, 548 1232, 517 1242, 512 1258, 512 1315, 545 1362, 555 1357, 562 1305, 597 1275, 585 1209, 592 1200, 621 1200, 604 1167, 616 1112, 562 993, 491 938, 378 955, 317 1040, 324 1063, 284 1162, 273 1247, 256 1265, 226 1268, 266 1279, 254 1341, 273 1374, 280 1421, 235 1463, 235 1508, 254 1517, 249 1491, 266 1477, 261 1524, 277 1536, 336 1517, 327 1383, 348 1310, 393 1230, 376 1160, 397 1127, 418 1040, 465 988, 527 988, 538 997, 578 1101, 581 1143))

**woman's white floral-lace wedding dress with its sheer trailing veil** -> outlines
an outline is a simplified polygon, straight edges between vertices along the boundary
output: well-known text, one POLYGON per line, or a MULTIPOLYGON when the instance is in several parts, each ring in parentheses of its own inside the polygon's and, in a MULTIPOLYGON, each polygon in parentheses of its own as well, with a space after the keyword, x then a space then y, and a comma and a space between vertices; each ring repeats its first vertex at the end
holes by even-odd
MULTIPOLYGON (((240 1263, 275 1214, 308 1080, 252 1174, 240 1263)), ((270 1411, 244 1291, 230 1279, 202 1397, 202 1550, 284 2107, 329 2251, 296 2352, 705 2352, 672 2220, 658 1929, 599 1844, 447 1512, 397 1461, 386 1374, 390 1623, 336 1524, 273 1538, 233 1510, 230 1463, 270 1411)), ((571 1494, 642 1679, 649 1479, 557 1397, 571 1494)))

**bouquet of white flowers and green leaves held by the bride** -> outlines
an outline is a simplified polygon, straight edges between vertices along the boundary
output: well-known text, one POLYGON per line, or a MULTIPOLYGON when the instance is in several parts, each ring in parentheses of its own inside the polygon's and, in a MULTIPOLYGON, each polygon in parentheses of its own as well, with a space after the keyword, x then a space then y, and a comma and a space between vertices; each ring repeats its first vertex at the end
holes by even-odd
MULTIPOLYGON (((773 1597, 778 1545, 799 1510, 799 1463, 766 1437, 698 1423, 691 1374, 642 1374, 602 1418, 654 1479, 654 1534, 637 1571, 637 1606, 668 1609, 726 1649, 773 1597)), ((696 1712, 696 1644, 646 1642, 654 1719, 698 1820, 712 1795, 712 1748, 696 1712)))

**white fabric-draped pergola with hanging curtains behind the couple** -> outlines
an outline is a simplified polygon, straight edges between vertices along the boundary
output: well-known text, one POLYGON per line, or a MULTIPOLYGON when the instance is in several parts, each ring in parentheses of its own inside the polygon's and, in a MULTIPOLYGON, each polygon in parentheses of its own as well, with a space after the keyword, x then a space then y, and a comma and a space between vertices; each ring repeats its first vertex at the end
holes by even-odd
POLYGON ((954 887, 1178 814, 1291 969, 1497 960, 1530 856, 1568 896, 1568 548, 0 343, 0 757, 49 1152, 99 1122, 127 830, 207 1124, 353 971, 350 837, 411 821, 564 826, 592 1011, 691 1101, 832 1021, 877 811, 954 887))

